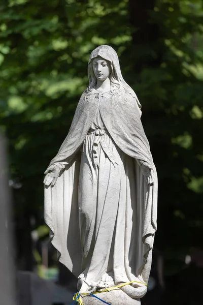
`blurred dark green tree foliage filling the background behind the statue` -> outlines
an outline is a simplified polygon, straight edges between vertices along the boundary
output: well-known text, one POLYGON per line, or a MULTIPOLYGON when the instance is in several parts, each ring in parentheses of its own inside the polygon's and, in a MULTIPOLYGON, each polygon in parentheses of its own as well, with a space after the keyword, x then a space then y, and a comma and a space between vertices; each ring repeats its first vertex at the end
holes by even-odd
POLYGON ((203 235, 203 24, 200 0, 9 0, 0 5, 0 117, 10 143, 18 258, 32 268, 43 172, 66 136, 92 49, 116 49, 143 105, 159 177, 156 246, 165 273, 203 235))

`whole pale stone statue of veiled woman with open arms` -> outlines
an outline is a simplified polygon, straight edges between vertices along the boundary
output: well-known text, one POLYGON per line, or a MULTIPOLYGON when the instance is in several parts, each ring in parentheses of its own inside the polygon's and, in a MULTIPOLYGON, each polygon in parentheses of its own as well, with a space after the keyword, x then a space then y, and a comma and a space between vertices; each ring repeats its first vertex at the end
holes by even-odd
POLYGON ((88 77, 45 171, 45 221, 60 262, 78 277, 81 304, 140 304, 156 231, 156 169, 141 104, 112 47, 92 51, 88 77))

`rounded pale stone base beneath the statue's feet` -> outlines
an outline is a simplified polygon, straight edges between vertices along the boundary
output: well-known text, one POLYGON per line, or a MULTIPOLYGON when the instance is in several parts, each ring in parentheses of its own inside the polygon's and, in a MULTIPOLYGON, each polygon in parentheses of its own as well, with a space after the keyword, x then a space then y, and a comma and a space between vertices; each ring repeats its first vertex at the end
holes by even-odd
MULTIPOLYGON (((95 294, 95 296, 111 305, 141 305, 140 299, 132 299, 122 290, 112 290, 95 294)), ((83 305, 102 305, 104 304, 93 296, 83 296, 83 305)))

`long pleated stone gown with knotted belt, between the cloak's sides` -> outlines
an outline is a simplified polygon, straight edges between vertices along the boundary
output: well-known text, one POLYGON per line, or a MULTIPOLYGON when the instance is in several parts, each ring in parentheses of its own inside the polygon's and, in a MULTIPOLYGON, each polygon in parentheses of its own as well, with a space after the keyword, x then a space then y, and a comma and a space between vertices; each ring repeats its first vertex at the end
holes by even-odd
POLYGON ((83 143, 78 198, 83 253, 79 278, 90 290, 138 280, 138 241, 131 234, 138 228, 135 163, 115 144, 98 110, 83 143))

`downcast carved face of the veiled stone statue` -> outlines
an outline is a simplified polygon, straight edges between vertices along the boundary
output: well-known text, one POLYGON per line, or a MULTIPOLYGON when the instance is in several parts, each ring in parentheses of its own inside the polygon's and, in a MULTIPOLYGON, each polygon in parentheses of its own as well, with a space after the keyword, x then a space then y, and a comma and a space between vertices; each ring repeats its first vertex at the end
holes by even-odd
POLYGON ((92 60, 94 75, 98 80, 104 81, 110 75, 110 66, 108 60, 98 56, 92 60))

